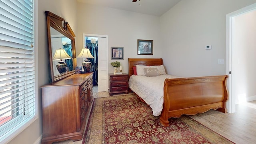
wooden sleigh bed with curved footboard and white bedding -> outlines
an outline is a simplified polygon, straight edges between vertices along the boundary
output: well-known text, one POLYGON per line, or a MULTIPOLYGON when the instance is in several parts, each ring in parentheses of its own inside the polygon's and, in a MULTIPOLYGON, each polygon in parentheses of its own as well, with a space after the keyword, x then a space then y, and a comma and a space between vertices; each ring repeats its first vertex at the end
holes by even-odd
MULTIPOLYGON (((228 91, 226 88, 227 75, 204 76, 193 78, 180 78, 177 76, 135 76, 134 67, 140 66, 163 66, 162 58, 128 58, 129 62, 129 88, 143 102, 146 102, 153 110, 153 115, 160 115, 160 122, 164 126, 169 126, 168 119, 179 118, 182 114, 195 115, 204 113, 210 109, 226 113, 226 100, 228 91), (142 78, 143 80, 139 80, 142 78), (162 79, 157 84, 145 82, 146 78, 151 80, 162 79), (145 79, 145 80, 144 80, 145 79), (137 80, 137 82, 135 82, 137 80), (135 86, 135 84, 139 86, 135 86), (142 84, 146 83, 146 85, 142 84), (159 87, 160 86, 160 87, 159 87), (139 91, 140 88, 144 91, 139 91), (148 90, 146 90, 148 89, 148 90), (152 100, 148 100, 143 93, 152 93, 152 100), (157 91, 160 90, 160 91, 157 91), (155 103, 160 110, 154 110, 155 103), (159 112, 160 111, 160 112, 159 112)), ((136 71, 136 70, 135 70, 136 71)), ((137 70, 138 71, 138 70, 137 70)))

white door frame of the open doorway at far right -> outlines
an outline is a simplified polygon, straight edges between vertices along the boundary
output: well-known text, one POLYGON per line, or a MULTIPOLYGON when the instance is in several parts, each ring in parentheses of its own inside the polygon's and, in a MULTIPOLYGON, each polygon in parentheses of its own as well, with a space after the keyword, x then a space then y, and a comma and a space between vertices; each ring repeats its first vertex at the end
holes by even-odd
POLYGON ((235 16, 256 10, 256 3, 226 15, 226 74, 229 98, 226 102, 228 113, 236 112, 236 97, 232 95, 232 20, 235 16), (231 72, 231 74, 230 74, 231 72))

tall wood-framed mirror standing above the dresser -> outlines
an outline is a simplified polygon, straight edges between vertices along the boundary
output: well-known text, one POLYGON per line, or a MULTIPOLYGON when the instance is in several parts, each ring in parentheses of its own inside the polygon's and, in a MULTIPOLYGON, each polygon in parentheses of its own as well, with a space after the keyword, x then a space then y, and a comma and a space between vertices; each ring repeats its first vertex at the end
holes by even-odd
POLYGON ((55 82, 75 74, 75 35, 64 18, 49 11, 45 11, 45 14, 48 32, 50 82, 55 82), (62 54, 62 52, 64 53, 62 54))

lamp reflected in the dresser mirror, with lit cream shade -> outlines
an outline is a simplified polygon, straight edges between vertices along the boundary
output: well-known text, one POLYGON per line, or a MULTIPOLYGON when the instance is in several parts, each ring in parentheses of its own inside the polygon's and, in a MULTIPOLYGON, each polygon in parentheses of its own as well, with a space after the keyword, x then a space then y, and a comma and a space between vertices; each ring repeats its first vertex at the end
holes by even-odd
POLYGON ((65 73, 65 72, 68 71, 67 70, 68 69, 67 64, 63 60, 67 60, 67 59, 70 59, 70 58, 72 58, 72 57, 69 56, 68 53, 64 49, 60 48, 60 49, 56 50, 52 60, 60 60, 58 62, 59 64, 56 65, 57 70, 60 74, 65 73))

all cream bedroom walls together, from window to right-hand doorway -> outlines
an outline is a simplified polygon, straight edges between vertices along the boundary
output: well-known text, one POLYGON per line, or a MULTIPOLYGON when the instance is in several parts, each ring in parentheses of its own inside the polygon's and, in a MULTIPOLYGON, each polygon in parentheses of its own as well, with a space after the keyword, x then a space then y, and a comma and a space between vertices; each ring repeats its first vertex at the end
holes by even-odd
MULTIPOLYGON (((217 64, 217 59, 225 59, 226 14, 254 2, 256 0, 182 0, 163 16, 156 17, 87 6, 76 0, 38 0, 39 119, 9 144, 33 144, 42 135, 40 86, 50 78, 45 10, 70 24, 76 34, 77 52, 83 47, 82 33, 108 35, 109 58, 111 46, 124 47, 124 60, 120 60, 124 72, 128 72, 128 58, 163 58, 169 74, 203 76, 225 73, 225 65, 217 64), (137 39, 154 40, 154 55, 137 55, 137 39), (208 44, 212 50, 204 50, 208 44)), ((110 73, 112 61, 109 59, 110 73)))

